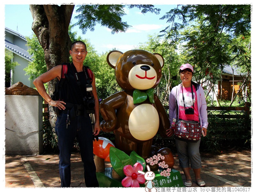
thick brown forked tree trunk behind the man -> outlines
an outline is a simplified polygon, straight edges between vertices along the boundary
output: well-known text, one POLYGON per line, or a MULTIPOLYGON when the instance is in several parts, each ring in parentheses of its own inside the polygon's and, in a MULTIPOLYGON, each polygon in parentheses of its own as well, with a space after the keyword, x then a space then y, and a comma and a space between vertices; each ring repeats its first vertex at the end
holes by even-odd
MULTIPOLYGON (((69 49, 72 44, 68 35, 68 26, 75 5, 29 5, 33 17, 32 30, 44 49, 47 71, 69 60, 69 49)), ((51 95, 58 79, 48 82, 51 95)), ((50 108, 50 111, 51 110, 50 108)), ((52 113, 52 112, 51 112, 52 113)), ((50 117, 55 117, 54 113, 50 117)), ((55 119, 50 122, 52 126, 55 119)))

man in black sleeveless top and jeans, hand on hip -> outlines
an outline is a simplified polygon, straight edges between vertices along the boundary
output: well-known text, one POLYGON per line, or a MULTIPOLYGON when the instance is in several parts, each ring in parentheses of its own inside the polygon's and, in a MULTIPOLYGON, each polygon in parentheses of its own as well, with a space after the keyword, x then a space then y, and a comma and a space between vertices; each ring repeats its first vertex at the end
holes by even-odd
POLYGON ((92 134, 92 121, 86 111, 88 109, 86 109, 84 104, 84 97, 88 93, 88 91, 86 91, 88 73, 85 73, 86 68, 83 67, 83 61, 87 55, 86 45, 82 41, 76 41, 72 44, 69 53, 72 56, 73 62, 68 64, 66 80, 61 87, 60 100, 52 100, 46 93, 44 83, 56 77, 60 80, 62 65, 58 65, 37 77, 33 83, 40 95, 49 105, 59 110, 55 131, 58 136, 58 146, 60 149, 59 169, 61 187, 70 187, 70 157, 75 138, 78 141, 81 158, 84 163, 85 185, 86 187, 99 187, 96 178, 96 167, 93 160, 92 143, 94 138, 93 134, 96 136, 100 132, 99 100, 96 92, 95 77, 92 74, 91 93, 95 99, 95 126, 94 133, 92 134))

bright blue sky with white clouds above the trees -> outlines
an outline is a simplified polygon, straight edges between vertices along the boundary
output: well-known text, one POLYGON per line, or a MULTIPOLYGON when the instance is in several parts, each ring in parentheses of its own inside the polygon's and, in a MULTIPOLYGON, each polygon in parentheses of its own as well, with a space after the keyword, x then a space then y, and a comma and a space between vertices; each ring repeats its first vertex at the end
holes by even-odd
MULTIPOLYGON (((107 27, 102 27, 97 24, 93 32, 87 31, 86 34, 82 34, 82 31, 76 26, 72 32, 77 32, 77 36, 80 35, 82 39, 89 39, 90 43, 94 46, 98 53, 105 53, 106 51, 116 48, 116 50, 125 52, 133 49, 139 43, 146 42, 148 35, 159 33, 169 23, 166 20, 160 20, 159 18, 170 11, 177 5, 155 5, 156 8, 160 8, 160 14, 146 13, 142 14, 137 8, 128 9, 125 8, 125 15, 122 17, 123 21, 126 21, 128 25, 132 25, 126 32, 118 32, 111 34, 111 31, 107 27)), ((4 7, 5 13, 5 27, 19 32, 23 36, 31 36, 33 31, 31 29, 33 18, 29 11, 28 4, 6 4, 4 7)), ((77 22, 75 16, 77 7, 75 7, 71 23, 77 22)), ((90 50, 88 50, 90 51, 90 50)))

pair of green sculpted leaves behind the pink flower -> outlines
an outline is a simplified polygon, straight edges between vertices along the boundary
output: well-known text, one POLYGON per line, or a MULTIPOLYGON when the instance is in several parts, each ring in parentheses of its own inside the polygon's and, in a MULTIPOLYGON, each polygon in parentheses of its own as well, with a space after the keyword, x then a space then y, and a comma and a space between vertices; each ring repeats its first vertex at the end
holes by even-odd
POLYGON ((125 177, 123 168, 126 165, 133 166, 135 163, 139 162, 143 166, 143 170, 146 167, 145 160, 140 157, 135 151, 132 151, 129 156, 115 147, 110 147, 109 158, 113 169, 122 178, 125 177))

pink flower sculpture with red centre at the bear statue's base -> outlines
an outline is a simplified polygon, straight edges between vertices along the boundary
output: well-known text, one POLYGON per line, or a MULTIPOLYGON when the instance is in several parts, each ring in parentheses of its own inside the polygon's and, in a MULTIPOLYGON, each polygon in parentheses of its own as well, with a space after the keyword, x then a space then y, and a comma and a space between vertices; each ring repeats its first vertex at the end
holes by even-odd
POLYGON ((123 187, 140 187, 140 184, 145 183, 144 175, 139 174, 137 172, 138 170, 143 170, 140 163, 135 163, 133 167, 131 165, 124 166, 124 174, 126 177, 122 180, 123 187))

